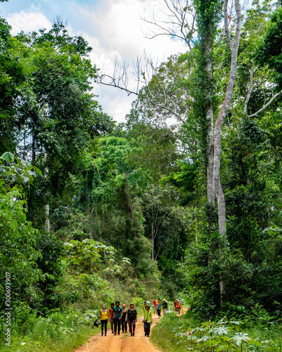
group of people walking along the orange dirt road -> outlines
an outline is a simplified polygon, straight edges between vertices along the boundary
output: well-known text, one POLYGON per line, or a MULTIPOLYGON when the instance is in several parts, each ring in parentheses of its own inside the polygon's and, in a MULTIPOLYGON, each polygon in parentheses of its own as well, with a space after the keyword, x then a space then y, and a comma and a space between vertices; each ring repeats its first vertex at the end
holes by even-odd
MULTIPOLYGON (((154 305, 154 313, 158 313, 160 318, 160 310, 162 308, 163 313, 165 313, 168 309, 167 301, 164 299, 162 303, 157 300, 157 298, 153 301, 154 305)), ((150 310, 150 305, 147 301, 144 301, 142 305, 143 309, 143 326, 145 336, 150 336, 150 326, 153 323, 152 310, 150 310)), ((122 304, 120 307, 120 302, 116 301, 115 303, 111 303, 109 310, 105 308, 105 304, 103 304, 102 309, 100 310, 100 318, 101 318, 101 335, 107 336, 107 325, 110 322, 110 329, 112 330, 112 334, 120 335, 120 330, 122 332, 127 332, 127 324, 129 327, 130 336, 134 336, 135 327, 137 322, 137 311, 135 309, 134 303, 130 303, 129 308, 126 309, 126 305, 122 304)))

